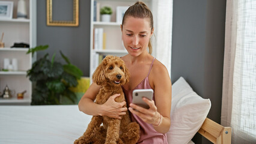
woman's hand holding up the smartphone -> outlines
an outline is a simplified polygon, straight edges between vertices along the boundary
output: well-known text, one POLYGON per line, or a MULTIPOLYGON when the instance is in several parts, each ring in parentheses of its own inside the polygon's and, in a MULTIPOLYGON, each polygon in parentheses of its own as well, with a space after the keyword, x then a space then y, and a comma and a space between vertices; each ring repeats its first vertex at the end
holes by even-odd
POLYGON ((147 98, 142 98, 145 103, 150 107, 149 109, 144 109, 143 107, 137 106, 136 104, 130 103, 129 110, 135 115, 138 115, 144 122, 148 124, 158 125, 160 122, 160 113, 157 112, 157 107, 153 100, 148 100, 147 98), (136 110, 135 110, 136 109, 136 110))

